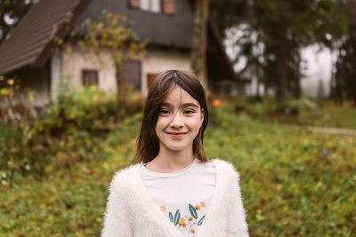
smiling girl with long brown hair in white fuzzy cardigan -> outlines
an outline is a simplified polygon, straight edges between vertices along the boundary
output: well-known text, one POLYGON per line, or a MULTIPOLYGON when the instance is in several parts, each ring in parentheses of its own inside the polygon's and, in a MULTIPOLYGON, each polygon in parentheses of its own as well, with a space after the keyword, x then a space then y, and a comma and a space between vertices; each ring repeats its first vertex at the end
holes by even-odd
POLYGON ((102 237, 248 236, 239 174, 208 159, 206 91, 170 70, 150 86, 134 165, 109 187, 102 237))

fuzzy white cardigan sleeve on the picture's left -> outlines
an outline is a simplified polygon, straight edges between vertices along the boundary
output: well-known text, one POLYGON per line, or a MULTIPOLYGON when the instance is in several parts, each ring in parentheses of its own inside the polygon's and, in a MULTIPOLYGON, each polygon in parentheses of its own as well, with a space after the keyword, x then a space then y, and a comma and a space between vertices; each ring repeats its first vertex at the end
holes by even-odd
POLYGON ((111 181, 101 237, 134 236, 125 183, 120 172, 111 181))

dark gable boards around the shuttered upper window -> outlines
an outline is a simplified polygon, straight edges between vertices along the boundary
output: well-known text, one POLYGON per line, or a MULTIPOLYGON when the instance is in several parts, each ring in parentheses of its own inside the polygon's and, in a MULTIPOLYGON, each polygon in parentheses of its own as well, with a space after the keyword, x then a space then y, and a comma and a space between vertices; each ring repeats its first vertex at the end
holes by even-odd
POLYGON ((193 6, 190 0, 176 0, 175 13, 165 14, 142 11, 130 7, 128 0, 93 0, 79 17, 77 25, 87 19, 96 21, 104 10, 127 15, 134 22, 134 30, 150 44, 190 49, 193 31, 193 6))

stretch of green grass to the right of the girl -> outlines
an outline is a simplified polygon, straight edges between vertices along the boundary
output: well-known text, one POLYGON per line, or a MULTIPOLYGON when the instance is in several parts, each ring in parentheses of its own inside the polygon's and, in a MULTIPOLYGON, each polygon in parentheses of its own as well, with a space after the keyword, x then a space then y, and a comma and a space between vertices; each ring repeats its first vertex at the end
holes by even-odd
POLYGON ((217 114, 206 152, 238 168, 251 235, 356 233, 355 137, 217 114))

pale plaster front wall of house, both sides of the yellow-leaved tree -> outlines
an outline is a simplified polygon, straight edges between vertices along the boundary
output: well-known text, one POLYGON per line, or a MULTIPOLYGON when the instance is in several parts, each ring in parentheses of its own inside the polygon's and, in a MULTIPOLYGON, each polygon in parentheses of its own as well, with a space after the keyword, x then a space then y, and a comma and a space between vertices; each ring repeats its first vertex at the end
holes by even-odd
MULTIPOLYGON (((190 52, 177 50, 148 49, 142 57, 133 57, 142 62, 141 84, 142 93, 147 93, 147 76, 159 74, 166 70, 179 69, 190 71, 190 52)), ((85 52, 78 46, 73 46, 71 51, 62 53, 62 78, 69 79, 72 88, 80 88, 82 85, 81 74, 83 69, 99 71, 99 89, 104 91, 116 91, 116 70, 114 60, 108 50, 101 51, 101 56, 85 52)))

